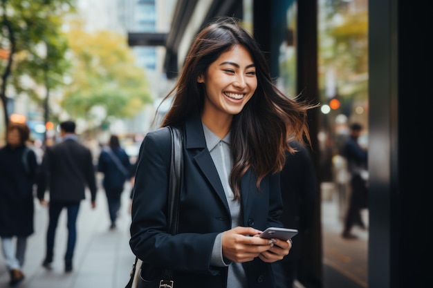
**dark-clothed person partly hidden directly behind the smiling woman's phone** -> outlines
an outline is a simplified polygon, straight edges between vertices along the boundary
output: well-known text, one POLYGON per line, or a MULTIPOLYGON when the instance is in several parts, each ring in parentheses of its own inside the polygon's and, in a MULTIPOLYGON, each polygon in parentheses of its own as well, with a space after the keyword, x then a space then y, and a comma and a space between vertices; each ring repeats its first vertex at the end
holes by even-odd
POLYGON ((319 191, 310 151, 297 141, 289 144, 296 152, 286 152, 286 163, 281 172, 281 221, 284 227, 295 228, 299 233, 293 238, 291 253, 274 265, 278 288, 295 287, 295 280, 302 275, 302 251, 309 249, 303 244, 306 242, 304 240, 311 237, 319 191))

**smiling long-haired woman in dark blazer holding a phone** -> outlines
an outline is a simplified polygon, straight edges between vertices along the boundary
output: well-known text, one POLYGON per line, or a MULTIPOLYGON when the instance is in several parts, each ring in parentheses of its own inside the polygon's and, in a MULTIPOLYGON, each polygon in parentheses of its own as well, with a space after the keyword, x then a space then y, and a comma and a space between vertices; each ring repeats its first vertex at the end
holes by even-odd
MULTIPOLYGON (((290 240, 258 236, 282 227, 279 171, 289 135, 308 139, 311 106, 274 86, 255 40, 232 18, 196 36, 162 126, 183 131, 178 233, 167 233, 170 137, 140 148, 130 246, 146 267, 174 271, 175 287, 275 287, 270 263, 290 240)), ((146 277, 146 276, 145 276, 146 277)))

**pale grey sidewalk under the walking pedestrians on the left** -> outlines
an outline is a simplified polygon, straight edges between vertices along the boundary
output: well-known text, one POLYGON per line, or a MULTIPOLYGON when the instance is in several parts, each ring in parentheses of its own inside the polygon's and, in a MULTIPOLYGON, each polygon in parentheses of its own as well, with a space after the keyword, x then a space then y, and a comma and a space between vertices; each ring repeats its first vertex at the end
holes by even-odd
MULTIPOLYGON (((45 256, 48 211, 35 201, 35 233, 28 238, 25 280, 19 288, 122 288, 129 280, 129 272, 135 256, 129 248, 128 213, 129 183, 122 193, 122 207, 116 230, 109 230, 107 198, 102 189, 96 196, 96 208, 91 209, 90 195, 82 201, 77 219, 77 244, 73 259, 73 271, 64 272, 66 249, 66 211, 60 215, 55 238, 53 270, 42 267, 45 256)), ((0 253, 0 288, 10 287, 10 278, 0 253)))

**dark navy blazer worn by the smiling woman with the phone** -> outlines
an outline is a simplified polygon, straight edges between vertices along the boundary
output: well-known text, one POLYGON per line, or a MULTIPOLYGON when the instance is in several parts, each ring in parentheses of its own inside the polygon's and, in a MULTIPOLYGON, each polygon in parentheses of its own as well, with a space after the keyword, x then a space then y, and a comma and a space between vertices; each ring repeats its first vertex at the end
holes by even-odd
MULTIPOLYGON (((167 189, 170 157, 168 128, 147 133, 140 147, 132 204, 130 246, 143 262, 174 269, 176 287, 226 287, 227 267, 211 267, 218 233, 231 228, 230 211, 205 143, 198 114, 185 123, 184 167, 178 234, 167 230, 167 189)), ((279 173, 256 187, 248 171, 241 180, 243 226, 264 230, 282 227, 279 173)), ((256 258, 244 265, 248 287, 274 287, 270 265, 256 258)))

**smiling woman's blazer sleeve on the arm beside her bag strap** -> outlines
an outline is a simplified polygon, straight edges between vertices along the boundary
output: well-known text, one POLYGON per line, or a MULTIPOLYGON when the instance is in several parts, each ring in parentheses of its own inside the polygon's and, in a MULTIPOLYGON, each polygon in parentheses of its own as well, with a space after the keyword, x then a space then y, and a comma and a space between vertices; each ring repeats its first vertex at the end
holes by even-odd
POLYGON ((134 184, 131 250, 154 267, 216 275, 219 269, 209 263, 217 232, 167 233, 170 153, 168 128, 147 133, 140 147, 134 184))

